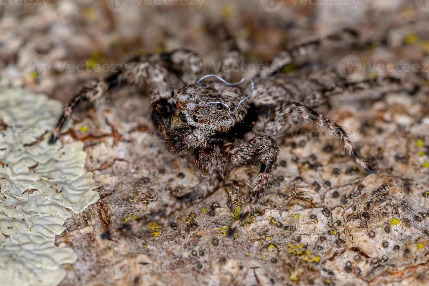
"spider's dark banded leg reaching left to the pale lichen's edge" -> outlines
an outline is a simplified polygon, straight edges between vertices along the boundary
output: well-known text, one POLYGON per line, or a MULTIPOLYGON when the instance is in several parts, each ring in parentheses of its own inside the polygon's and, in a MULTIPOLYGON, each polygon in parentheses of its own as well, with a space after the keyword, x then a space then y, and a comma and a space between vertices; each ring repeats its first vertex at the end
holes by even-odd
MULTIPOLYGON (((118 72, 110 77, 95 82, 90 86, 84 87, 69 103, 69 105, 64 108, 63 114, 58 120, 57 126, 52 132, 49 143, 53 144, 57 141, 58 136, 60 135, 60 130, 63 127, 66 120, 70 117, 73 110, 79 103, 84 101, 94 102, 102 96, 106 96, 111 93, 113 90, 116 90, 124 85, 131 84, 142 84, 142 81, 145 80, 145 70, 148 68, 148 62, 135 63, 131 62, 126 65, 123 72, 118 72)), ((146 73, 147 74, 147 73, 146 73)))

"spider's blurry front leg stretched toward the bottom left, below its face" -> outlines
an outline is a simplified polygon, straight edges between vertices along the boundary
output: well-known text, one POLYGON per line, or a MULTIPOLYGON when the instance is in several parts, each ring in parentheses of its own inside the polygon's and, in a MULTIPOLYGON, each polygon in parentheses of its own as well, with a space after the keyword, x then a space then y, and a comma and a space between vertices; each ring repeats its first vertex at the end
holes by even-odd
POLYGON ((149 214, 125 223, 116 229, 107 230, 101 236, 110 238, 113 234, 124 232, 130 229, 138 229, 151 222, 164 223, 167 218, 177 214, 184 208, 202 202, 205 198, 213 194, 225 181, 228 175, 226 162, 218 154, 199 151, 195 157, 196 167, 202 174, 210 174, 201 183, 193 187, 193 190, 176 199, 172 199, 163 205, 155 208, 149 214))

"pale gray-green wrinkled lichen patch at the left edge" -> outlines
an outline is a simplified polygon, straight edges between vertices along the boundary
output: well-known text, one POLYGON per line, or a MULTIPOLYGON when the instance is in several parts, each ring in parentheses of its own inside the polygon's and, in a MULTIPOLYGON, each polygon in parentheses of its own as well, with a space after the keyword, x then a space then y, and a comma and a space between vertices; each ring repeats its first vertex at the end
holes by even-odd
POLYGON ((54 244, 66 219, 99 199, 85 171, 82 142, 48 145, 61 104, 20 88, 0 87, 0 265, 6 285, 52 285, 77 256, 54 244), (4 268, 4 269, 3 269, 4 268))

